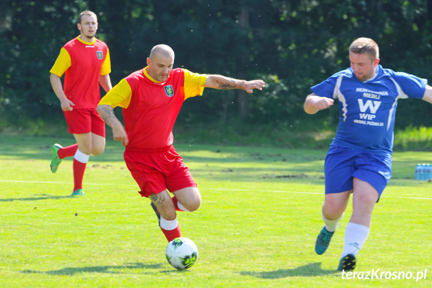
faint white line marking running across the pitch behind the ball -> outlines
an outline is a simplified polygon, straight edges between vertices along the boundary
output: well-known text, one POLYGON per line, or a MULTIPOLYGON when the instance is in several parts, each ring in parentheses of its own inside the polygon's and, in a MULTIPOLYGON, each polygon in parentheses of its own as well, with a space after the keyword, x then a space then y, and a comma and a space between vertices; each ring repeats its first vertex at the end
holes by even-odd
MULTIPOLYGON (((0 182, 10 182, 10 183, 37 183, 37 184, 70 184, 69 182, 48 182, 48 181, 26 181, 26 180, 2 180, 0 182)), ((129 187, 137 187, 137 185, 131 184, 110 184, 110 183, 86 183, 86 185, 95 185, 95 186, 129 186, 129 187)), ((230 189, 230 188, 206 188, 209 190, 224 190, 224 191, 254 191, 250 189, 230 189)), ((300 192, 300 191, 280 191, 280 190, 261 190, 261 192, 273 192, 273 193, 291 193, 291 194, 315 194, 322 195, 322 192, 300 192)), ((424 197, 397 197, 397 196, 385 196, 388 198, 399 198, 399 199, 416 199, 416 200, 432 200, 432 198, 424 198, 424 197)))

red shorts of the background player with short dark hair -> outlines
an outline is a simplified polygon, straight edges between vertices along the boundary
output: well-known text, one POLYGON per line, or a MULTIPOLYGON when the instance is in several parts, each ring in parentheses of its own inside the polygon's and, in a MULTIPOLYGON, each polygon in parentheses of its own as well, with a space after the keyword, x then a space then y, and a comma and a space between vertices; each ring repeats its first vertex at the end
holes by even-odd
POLYGON ((105 122, 102 120, 96 108, 74 109, 63 111, 68 124, 69 133, 84 134, 93 132, 105 137, 105 122))

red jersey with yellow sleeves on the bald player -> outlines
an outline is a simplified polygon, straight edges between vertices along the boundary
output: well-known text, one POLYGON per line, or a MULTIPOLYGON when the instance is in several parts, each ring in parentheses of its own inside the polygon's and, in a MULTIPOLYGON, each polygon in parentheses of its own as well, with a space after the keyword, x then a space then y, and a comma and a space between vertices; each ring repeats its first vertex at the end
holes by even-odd
POLYGON ((99 105, 123 107, 126 150, 154 151, 173 143, 172 129, 183 101, 202 95, 206 79, 204 74, 176 68, 165 82, 156 82, 145 68, 120 81, 99 105))

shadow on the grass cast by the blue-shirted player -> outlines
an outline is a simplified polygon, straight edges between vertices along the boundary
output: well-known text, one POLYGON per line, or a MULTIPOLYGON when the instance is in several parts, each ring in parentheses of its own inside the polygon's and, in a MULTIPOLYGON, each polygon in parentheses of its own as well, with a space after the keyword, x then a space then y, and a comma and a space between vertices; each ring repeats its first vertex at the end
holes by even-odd
POLYGON ((260 272, 241 272, 242 275, 255 276, 264 279, 278 279, 284 277, 294 276, 323 276, 328 274, 336 274, 338 271, 334 270, 323 270, 321 269, 321 262, 309 263, 293 269, 279 269, 274 271, 260 271, 260 272))

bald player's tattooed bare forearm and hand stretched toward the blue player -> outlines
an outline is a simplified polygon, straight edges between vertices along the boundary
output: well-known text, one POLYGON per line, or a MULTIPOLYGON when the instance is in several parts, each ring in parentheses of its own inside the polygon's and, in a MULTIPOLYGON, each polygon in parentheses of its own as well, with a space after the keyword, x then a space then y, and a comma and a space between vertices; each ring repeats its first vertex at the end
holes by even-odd
POLYGON ((262 80, 239 80, 222 75, 207 75, 204 87, 214 89, 243 89, 247 93, 252 93, 254 89, 262 90, 265 82, 262 80))

